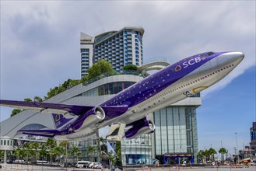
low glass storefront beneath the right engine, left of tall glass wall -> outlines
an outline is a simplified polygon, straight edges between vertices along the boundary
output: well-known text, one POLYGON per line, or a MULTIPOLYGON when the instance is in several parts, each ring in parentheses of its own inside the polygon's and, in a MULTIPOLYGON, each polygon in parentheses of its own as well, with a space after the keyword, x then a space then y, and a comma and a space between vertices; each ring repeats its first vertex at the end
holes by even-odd
POLYGON ((142 134, 133 139, 123 138, 121 141, 121 157, 124 166, 152 164, 151 135, 142 134))

